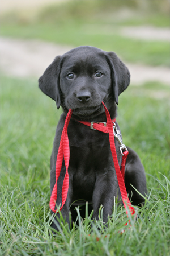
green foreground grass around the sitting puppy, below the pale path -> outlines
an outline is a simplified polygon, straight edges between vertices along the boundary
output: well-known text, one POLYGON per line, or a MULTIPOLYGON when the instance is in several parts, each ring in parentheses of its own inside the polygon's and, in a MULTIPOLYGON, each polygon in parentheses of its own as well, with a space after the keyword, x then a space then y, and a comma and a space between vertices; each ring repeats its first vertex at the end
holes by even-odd
MULTIPOLYGON (((61 114, 34 79, 1 79, 0 255, 169 255, 170 90, 149 83, 121 96, 117 121, 124 143, 146 169, 149 202, 131 228, 115 205, 108 229, 90 217, 52 236, 49 159, 61 114), (163 99, 151 92, 162 90, 163 99), (121 234, 121 230, 125 232, 121 234)), ((79 213, 79 211, 78 211, 79 213)), ((101 211, 102 214, 102 211, 101 211)))

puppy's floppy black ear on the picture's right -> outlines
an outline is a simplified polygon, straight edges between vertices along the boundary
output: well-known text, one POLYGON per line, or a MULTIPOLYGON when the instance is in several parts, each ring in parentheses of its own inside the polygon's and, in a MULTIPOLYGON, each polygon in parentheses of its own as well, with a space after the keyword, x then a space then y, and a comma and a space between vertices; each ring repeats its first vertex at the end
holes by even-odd
POLYGON ((108 52, 106 57, 111 68, 114 100, 118 105, 118 96, 124 92, 130 83, 130 72, 126 65, 117 57, 116 53, 108 52))

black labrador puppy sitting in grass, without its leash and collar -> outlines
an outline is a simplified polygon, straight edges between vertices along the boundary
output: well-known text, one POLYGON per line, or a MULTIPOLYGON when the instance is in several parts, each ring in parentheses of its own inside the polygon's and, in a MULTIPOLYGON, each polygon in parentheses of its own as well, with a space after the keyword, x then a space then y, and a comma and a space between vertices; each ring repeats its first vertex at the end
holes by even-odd
MULTIPOLYGON (((128 87, 129 82, 129 70, 116 53, 89 46, 81 46, 57 56, 39 79, 42 92, 56 101, 58 109, 59 106, 63 109, 50 159, 51 193, 56 183, 56 159, 63 126, 68 110, 73 110, 68 127, 69 192, 61 210, 67 222, 69 210, 75 219, 75 205, 81 205, 84 200, 88 201, 90 210, 94 209, 93 217, 96 220, 99 219, 99 208, 103 205, 103 221, 107 223, 108 216, 112 214, 114 197, 118 195, 118 200, 121 199, 108 134, 91 130, 78 121, 106 122, 102 101, 111 118, 116 118, 118 96, 128 87)), ((116 125, 118 127, 117 123, 116 125)), ((117 140, 115 145, 121 165, 122 157, 117 140)), ((138 155, 131 148, 128 150, 125 186, 131 203, 141 205, 145 201, 141 195, 145 196, 147 191, 145 170, 138 155)), ((63 162, 57 183, 57 205, 61 203, 65 170, 63 162)), ((57 230, 54 222, 52 226, 57 230)))

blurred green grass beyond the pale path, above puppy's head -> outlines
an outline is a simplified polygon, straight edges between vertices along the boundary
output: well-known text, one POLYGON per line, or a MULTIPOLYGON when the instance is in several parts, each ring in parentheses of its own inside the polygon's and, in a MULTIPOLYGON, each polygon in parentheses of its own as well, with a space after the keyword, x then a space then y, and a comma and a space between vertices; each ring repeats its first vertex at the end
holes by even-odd
POLYGON ((169 42, 120 35, 122 26, 169 26, 169 5, 157 0, 70 1, 42 9, 10 13, 1 18, 1 36, 41 39, 78 47, 89 45, 115 51, 125 61, 169 66, 169 42), (128 10, 128 16, 124 14, 128 10))

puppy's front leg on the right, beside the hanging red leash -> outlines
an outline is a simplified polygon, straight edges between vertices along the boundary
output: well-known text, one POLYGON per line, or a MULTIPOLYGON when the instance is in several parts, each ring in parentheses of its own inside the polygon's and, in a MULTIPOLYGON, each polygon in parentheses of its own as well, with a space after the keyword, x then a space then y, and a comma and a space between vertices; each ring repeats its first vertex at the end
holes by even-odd
POLYGON ((113 172, 105 172, 97 175, 95 189, 92 197, 94 207, 94 218, 99 220, 99 209, 103 206, 103 222, 108 222, 108 216, 112 214, 114 196, 117 195, 118 182, 116 174, 113 172))

